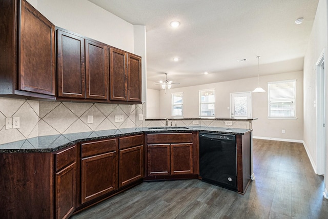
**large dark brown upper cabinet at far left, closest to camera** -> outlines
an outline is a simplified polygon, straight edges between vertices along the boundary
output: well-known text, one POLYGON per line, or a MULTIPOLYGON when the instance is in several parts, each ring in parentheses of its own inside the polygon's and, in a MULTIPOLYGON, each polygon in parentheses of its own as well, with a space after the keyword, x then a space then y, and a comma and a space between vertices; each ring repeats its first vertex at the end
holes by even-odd
POLYGON ((26 1, 0 1, 0 94, 55 99, 55 26, 26 1))

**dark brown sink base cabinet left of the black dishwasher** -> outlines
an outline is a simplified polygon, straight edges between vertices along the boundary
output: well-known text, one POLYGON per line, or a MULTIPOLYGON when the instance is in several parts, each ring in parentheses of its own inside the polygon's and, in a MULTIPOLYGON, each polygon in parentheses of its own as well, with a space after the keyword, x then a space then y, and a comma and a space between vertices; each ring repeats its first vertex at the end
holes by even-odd
POLYGON ((199 173, 198 133, 147 134, 147 176, 199 173))

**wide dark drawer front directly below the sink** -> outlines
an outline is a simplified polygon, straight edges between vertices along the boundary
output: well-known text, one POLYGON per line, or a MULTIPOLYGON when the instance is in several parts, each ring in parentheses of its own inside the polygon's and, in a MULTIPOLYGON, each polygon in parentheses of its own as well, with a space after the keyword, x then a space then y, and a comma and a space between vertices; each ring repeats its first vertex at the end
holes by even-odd
POLYGON ((192 143, 192 133, 159 133, 159 134, 147 134, 147 143, 192 143))

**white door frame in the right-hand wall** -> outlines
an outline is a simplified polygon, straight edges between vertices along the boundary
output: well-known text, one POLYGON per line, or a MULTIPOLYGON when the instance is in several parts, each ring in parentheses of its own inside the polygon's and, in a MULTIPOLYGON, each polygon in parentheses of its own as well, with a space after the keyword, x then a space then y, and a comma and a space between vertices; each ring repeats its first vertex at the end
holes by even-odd
POLYGON ((316 174, 324 175, 325 169, 325 51, 323 50, 316 63, 316 174))

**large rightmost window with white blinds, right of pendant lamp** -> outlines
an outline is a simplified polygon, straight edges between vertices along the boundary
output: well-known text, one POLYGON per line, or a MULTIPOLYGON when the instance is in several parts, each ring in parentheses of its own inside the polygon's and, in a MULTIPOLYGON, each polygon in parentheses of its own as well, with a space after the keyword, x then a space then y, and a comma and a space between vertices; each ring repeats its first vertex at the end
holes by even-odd
POLYGON ((296 80, 268 83, 269 118, 296 119, 296 80))

